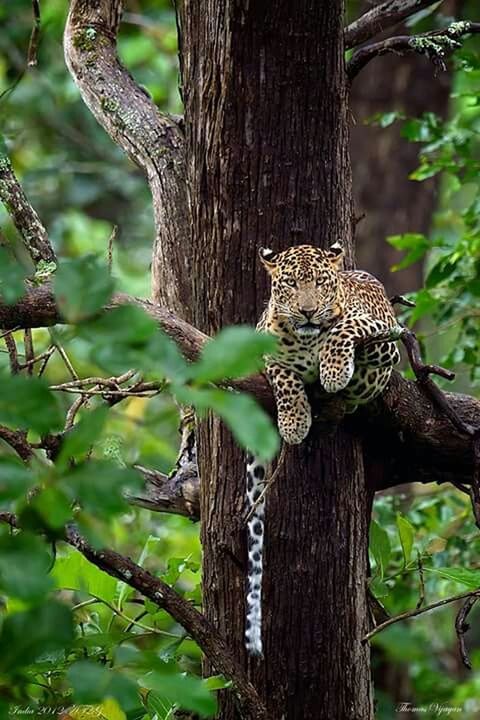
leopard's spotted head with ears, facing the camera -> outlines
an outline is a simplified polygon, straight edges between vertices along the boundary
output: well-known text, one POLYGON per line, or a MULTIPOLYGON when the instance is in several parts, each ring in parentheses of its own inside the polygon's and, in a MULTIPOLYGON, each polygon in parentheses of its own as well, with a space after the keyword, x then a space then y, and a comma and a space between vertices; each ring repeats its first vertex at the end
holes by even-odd
POLYGON ((279 253, 260 248, 259 254, 272 279, 271 306, 295 333, 319 333, 339 314, 339 244, 329 250, 298 245, 279 253))

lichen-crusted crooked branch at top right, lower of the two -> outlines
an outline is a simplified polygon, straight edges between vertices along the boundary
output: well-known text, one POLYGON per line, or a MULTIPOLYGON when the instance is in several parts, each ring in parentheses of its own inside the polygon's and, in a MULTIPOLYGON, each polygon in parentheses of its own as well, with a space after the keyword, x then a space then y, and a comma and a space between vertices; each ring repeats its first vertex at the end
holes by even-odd
POLYGON ((480 23, 461 20, 452 23, 444 30, 435 30, 424 35, 399 35, 372 43, 372 45, 366 45, 356 50, 347 63, 348 77, 353 80, 370 60, 386 53, 395 53, 397 55, 418 53, 425 55, 444 69, 445 58, 460 47, 459 38, 478 32, 480 32, 480 23))

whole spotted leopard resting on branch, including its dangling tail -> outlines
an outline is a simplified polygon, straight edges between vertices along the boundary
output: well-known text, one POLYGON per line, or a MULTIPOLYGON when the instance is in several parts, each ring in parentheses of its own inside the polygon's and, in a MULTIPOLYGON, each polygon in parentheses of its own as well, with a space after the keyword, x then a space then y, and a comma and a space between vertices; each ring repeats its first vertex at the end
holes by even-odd
MULTIPOLYGON (((328 250, 297 245, 280 252, 260 248, 271 279, 271 295, 257 330, 277 338, 265 357, 265 373, 277 408, 277 425, 287 445, 302 443, 312 426, 307 386, 344 401, 346 413, 371 402, 400 361, 401 337, 382 283, 364 270, 344 270, 339 242, 328 250)), ((262 650, 262 573, 265 463, 247 454, 248 578, 245 644, 262 650)))

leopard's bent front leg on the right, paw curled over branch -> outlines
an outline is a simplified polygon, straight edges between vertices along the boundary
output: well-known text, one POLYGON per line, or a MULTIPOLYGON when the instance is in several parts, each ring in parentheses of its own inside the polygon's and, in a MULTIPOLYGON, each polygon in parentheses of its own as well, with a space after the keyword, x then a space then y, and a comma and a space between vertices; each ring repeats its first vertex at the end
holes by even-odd
POLYGON ((382 337, 389 326, 368 316, 345 318, 326 335, 319 357, 319 377, 329 393, 344 390, 355 372, 355 348, 362 340, 382 337))

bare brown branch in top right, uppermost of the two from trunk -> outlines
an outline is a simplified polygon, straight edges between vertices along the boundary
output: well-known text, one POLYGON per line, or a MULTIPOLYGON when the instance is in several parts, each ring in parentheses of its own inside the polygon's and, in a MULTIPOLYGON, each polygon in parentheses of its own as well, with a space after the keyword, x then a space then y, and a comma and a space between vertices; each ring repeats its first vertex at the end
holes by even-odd
POLYGON ((347 25, 344 30, 345 47, 360 45, 435 2, 437 0, 386 0, 347 25))

